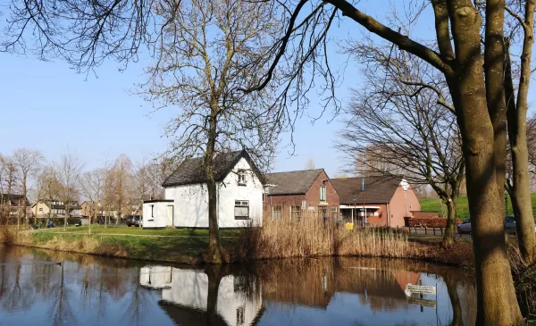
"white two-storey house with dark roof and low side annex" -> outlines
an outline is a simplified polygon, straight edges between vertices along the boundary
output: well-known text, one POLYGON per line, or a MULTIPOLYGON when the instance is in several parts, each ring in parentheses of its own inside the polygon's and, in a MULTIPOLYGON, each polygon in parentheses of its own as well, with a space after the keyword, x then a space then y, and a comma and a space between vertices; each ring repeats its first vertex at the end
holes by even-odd
MULTIPOLYGON (((246 150, 214 157, 220 228, 261 226, 263 178, 246 150)), ((143 204, 144 228, 208 228, 208 192, 203 158, 181 163, 164 182, 164 200, 143 204)))

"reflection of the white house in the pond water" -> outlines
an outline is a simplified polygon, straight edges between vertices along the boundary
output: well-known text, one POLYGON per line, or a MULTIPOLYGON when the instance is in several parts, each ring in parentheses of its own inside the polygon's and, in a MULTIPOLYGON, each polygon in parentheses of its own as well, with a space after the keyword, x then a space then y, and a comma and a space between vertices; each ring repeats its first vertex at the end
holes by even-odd
POLYGON ((178 325, 249 326, 262 315, 260 283, 251 275, 149 266, 139 281, 162 291, 158 305, 178 325))

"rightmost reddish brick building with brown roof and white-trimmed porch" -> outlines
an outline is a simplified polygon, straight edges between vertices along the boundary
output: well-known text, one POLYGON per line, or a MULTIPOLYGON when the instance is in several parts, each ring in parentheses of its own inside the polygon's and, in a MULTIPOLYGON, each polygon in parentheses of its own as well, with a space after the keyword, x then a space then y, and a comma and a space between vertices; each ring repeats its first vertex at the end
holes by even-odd
POLYGON ((365 177, 331 182, 339 192, 340 215, 348 222, 403 227, 405 216, 421 210, 419 199, 406 180, 365 177))

